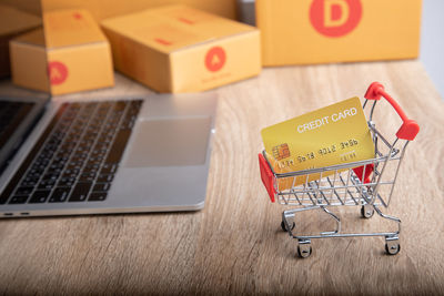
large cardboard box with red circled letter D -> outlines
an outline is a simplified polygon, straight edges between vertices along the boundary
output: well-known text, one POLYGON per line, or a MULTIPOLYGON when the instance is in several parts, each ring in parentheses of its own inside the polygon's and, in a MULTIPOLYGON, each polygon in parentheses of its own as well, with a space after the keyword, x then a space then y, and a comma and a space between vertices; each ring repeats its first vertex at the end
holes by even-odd
POLYGON ((258 0, 264 65, 413 59, 421 0, 258 0))

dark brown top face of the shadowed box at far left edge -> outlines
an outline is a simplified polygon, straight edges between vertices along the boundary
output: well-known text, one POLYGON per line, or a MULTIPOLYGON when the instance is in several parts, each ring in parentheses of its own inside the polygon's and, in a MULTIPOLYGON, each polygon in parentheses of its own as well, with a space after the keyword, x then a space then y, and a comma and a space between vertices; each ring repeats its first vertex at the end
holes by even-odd
POLYGON ((37 16, 0 4, 0 35, 16 34, 41 25, 37 16))

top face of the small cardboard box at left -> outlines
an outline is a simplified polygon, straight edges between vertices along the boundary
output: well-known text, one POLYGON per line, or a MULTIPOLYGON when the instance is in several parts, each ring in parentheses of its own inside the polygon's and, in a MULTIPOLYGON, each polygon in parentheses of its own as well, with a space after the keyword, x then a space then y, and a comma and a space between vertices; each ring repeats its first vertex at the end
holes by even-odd
POLYGON ((43 13, 48 48, 107 41, 92 16, 84 9, 53 10, 43 13))

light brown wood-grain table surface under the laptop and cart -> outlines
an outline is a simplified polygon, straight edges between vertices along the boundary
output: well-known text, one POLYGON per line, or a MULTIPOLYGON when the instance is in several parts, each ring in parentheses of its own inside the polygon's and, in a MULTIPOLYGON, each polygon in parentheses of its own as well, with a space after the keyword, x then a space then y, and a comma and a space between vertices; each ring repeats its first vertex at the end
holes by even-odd
MULTIPOLYGON (((74 94, 138 94, 148 89, 117 74, 117 88, 74 94)), ((0 221, 3 293, 444 293, 444 102, 417 61, 265 69, 220 95, 206 204, 195 213, 127 214, 0 221), (383 82, 421 125, 407 147, 392 204, 402 220, 401 253, 384 239, 313 239, 310 258, 280 231, 279 204, 261 183, 260 130, 383 82)), ((380 126, 394 134, 389 106, 380 126)), ((376 228, 359 208, 334 210, 349 226, 376 228)), ((307 224, 327 226, 317 212, 307 224)), ((305 223, 306 224, 306 223, 305 223)), ((310 226, 310 225, 309 225, 310 226)))

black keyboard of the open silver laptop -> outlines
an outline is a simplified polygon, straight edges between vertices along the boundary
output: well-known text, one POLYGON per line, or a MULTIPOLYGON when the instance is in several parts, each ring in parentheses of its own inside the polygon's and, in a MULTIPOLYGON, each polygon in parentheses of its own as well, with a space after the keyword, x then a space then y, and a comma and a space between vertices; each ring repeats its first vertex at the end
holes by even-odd
POLYGON ((104 201, 142 101, 64 103, 0 204, 104 201))

